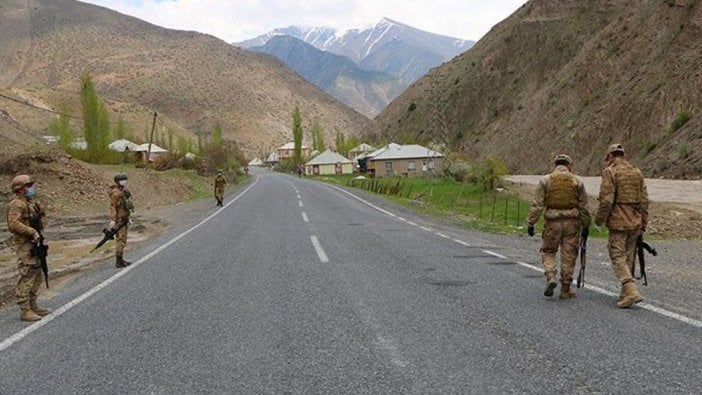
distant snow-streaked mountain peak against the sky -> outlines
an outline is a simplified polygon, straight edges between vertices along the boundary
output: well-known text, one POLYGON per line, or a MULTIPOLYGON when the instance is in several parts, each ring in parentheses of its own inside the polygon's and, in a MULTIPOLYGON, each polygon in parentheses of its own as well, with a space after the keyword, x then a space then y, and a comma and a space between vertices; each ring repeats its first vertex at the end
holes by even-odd
MULTIPOLYGON (((367 83, 365 82, 361 82, 358 88, 354 88, 357 81, 348 80, 349 84, 345 86, 345 89, 336 91, 331 91, 324 86, 318 85, 328 92, 337 92, 332 93, 332 95, 343 103, 360 103, 358 106, 349 105, 370 117, 375 116, 396 97, 392 92, 404 90, 429 69, 466 51, 474 43, 469 40, 425 32, 391 19, 383 18, 368 28, 346 31, 329 27, 288 26, 274 29, 271 32, 251 40, 235 43, 234 45, 273 54, 283 60, 288 66, 297 70, 295 64, 287 63, 278 54, 291 51, 280 47, 285 43, 296 46, 299 44, 292 41, 278 42, 276 43, 276 53, 269 52, 266 49, 266 43, 281 36, 294 37, 321 51, 348 58, 356 63, 361 70, 391 75, 395 81, 393 83, 388 81, 382 85, 396 85, 398 88, 386 89, 375 85, 373 88, 374 92, 377 92, 379 89, 384 92, 382 95, 377 95, 378 100, 381 100, 378 103, 373 103, 374 99, 369 97, 367 83), (359 101, 359 98, 364 99, 359 101), (369 104, 372 106, 370 110, 367 108, 369 104)), ((326 69, 326 66, 322 66, 322 68, 326 69)), ((325 73, 325 70, 310 69, 308 75, 314 73, 325 73)))

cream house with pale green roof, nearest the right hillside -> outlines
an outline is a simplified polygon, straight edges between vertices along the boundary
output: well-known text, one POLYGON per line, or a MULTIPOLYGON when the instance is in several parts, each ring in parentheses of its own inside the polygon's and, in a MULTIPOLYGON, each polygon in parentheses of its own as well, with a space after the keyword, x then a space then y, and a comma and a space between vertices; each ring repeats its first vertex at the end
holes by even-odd
POLYGON ((416 177, 441 172, 444 155, 418 144, 390 143, 366 157, 375 177, 416 177))

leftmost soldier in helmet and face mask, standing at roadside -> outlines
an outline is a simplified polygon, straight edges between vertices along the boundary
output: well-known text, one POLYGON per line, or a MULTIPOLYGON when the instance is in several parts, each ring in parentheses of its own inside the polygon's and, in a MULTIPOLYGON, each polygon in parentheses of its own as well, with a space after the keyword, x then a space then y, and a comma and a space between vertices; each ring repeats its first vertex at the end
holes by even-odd
POLYGON ((51 313, 37 305, 37 292, 41 284, 41 268, 32 256, 32 246, 39 241, 44 224, 44 210, 34 201, 34 180, 28 175, 19 175, 12 180, 15 198, 7 207, 7 228, 12 232, 12 245, 17 254, 19 278, 15 296, 20 307, 22 321, 38 321, 51 313))

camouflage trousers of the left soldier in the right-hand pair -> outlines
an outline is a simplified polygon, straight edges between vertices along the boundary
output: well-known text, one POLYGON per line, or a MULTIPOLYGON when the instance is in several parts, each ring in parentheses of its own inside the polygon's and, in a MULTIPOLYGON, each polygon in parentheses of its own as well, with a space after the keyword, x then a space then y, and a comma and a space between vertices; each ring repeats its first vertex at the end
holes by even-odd
POLYGON ((575 260, 578 257, 580 223, 577 219, 546 221, 541 235, 541 261, 546 277, 556 277, 556 253, 561 250, 561 282, 573 282, 575 260))

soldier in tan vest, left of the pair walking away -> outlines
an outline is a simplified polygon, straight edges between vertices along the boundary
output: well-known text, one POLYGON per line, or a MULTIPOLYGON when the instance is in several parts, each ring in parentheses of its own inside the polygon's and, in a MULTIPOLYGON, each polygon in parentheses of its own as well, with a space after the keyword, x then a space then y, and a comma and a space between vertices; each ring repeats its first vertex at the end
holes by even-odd
POLYGON ((556 156, 555 169, 544 176, 536 188, 529 213, 527 232, 534 235, 534 224, 544 212, 541 235, 541 260, 546 275, 545 296, 553 296, 556 288, 556 252, 561 250, 561 293, 559 298, 575 297, 573 270, 578 256, 578 236, 587 237, 590 213, 583 180, 572 173, 573 160, 564 154, 556 156), (545 210, 545 211, 544 211, 545 210), (578 232, 580 230, 580 232, 578 232))

